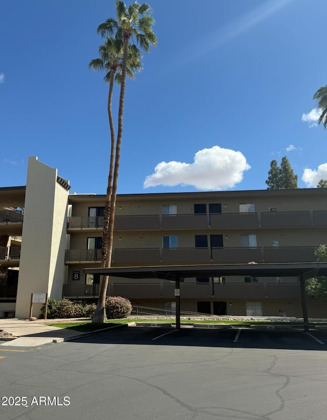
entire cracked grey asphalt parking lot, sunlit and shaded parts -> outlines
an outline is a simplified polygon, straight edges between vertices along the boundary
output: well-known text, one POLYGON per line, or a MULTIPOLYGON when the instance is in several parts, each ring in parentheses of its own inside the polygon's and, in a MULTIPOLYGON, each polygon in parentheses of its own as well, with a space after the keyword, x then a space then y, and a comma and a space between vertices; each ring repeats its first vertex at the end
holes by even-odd
POLYGON ((1 406, 0 418, 325 420, 325 343, 326 331, 122 327, 10 348, 2 398, 27 404, 1 406))

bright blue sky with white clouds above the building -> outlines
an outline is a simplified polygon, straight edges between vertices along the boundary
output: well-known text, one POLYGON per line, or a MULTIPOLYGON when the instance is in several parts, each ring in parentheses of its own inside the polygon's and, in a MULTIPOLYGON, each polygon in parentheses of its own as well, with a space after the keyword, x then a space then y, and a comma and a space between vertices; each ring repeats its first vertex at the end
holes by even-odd
MULTIPOLYGON (((265 189, 283 156, 300 188, 327 179, 312 100, 327 84, 325 0, 148 3, 158 45, 127 82, 119 193, 265 189)), ((71 191, 105 193, 108 86, 87 65, 114 0, 0 7, 0 186, 25 185, 37 156, 71 191)))

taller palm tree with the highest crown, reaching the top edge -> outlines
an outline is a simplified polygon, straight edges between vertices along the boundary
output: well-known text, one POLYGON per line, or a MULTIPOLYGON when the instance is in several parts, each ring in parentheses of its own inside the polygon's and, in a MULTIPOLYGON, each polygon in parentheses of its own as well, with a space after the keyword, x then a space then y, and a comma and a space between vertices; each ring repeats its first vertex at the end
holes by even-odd
MULTIPOLYGON (((130 40, 134 37, 136 43, 146 53, 150 52, 150 45, 156 45, 157 38, 152 31, 152 25, 154 19, 150 16, 152 10, 146 3, 140 5, 135 2, 126 8, 126 5, 121 0, 116 0, 116 17, 107 19, 104 23, 98 27, 98 33, 101 36, 106 37, 108 35, 115 34, 115 41, 117 45, 120 45, 123 50, 122 60, 122 72, 121 72, 121 90, 119 98, 119 112, 118 112, 118 133, 115 146, 115 158, 114 158, 114 170, 111 190, 111 201, 110 201, 110 214, 109 214, 109 225, 108 225, 108 249, 106 255, 106 266, 111 266, 111 254, 113 245, 113 225, 116 208, 116 194, 118 186, 118 173, 121 156, 121 142, 123 136, 123 110, 124 110, 124 98, 126 88, 126 75, 127 75, 127 63, 128 63, 128 52, 137 55, 139 53, 138 48, 130 40)), ((97 305, 97 311, 93 318, 94 322, 103 322, 105 319, 105 297, 108 287, 108 276, 104 276, 101 287, 99 300, 97 305)))

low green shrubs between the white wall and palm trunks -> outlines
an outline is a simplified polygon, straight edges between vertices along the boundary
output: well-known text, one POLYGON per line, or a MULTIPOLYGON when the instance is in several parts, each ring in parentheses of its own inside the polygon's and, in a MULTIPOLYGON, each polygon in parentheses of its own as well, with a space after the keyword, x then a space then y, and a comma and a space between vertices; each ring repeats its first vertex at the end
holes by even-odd
MULTIPOLYGON (((44 318, 44 307, 45 305, 40 310, 40 318, 44 318)), ((68 299, 61 299, 59 301, 49 299, 46 317, 49 319, 92 317, 95 310, 96 304, 94 303, 86 304, 81 301, 68 301, 68 299)))

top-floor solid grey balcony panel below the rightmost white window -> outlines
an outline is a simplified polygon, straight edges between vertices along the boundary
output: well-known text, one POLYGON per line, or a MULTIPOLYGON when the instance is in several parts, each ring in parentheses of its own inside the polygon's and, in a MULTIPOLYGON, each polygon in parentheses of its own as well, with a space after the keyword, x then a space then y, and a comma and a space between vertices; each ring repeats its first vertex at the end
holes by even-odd
POLYGON ((221 213, 210 216, 212 228, 256 228, 258 213, 221 213))

